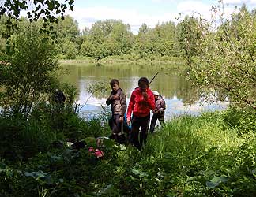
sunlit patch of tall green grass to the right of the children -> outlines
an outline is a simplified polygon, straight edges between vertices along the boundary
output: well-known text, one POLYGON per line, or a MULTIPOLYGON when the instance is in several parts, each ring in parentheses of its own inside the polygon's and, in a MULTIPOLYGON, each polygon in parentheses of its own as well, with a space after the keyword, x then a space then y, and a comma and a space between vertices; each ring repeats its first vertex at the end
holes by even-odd
POLYGON ((149 135, 144 151, 122 153, 119 172, 133 177, 123 180, 133 195, 254 196, 255 145, 254 135, 240 136, 221 113, 184 116, 149 135))

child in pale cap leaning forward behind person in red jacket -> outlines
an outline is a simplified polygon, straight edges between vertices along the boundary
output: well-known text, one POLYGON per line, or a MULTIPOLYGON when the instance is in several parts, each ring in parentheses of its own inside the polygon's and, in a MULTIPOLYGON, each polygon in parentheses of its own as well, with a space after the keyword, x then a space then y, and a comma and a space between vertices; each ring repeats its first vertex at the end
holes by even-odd
POLYGON ((165 101, 163 97, 158 93, 158 91, 153 91, 156 108, 153 110, 153 116, 150 123, 149 132, 153 133, 156 126, 156 121, 160 122, 160 125, 164 125, 164 110, 166 108, 165 101))

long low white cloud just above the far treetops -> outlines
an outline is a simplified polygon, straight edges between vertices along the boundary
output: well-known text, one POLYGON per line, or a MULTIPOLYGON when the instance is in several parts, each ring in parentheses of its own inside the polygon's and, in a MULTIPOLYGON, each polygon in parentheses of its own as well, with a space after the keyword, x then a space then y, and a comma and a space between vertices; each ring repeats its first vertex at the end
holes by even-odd
POLYGON ((139 13, 137 10, 115 9, 110 7, 90 7, 90 8, 74 8, 73 12, 68 13, 77 20, 79 28, 91 27, 97 20, 115 19, 122 20, 125 24, 130 24, 134 33, 142 23, 147 24, 150 28, 157 23, 166 21, 175 21, 177 14, 162 13, 161 15, 139 13))

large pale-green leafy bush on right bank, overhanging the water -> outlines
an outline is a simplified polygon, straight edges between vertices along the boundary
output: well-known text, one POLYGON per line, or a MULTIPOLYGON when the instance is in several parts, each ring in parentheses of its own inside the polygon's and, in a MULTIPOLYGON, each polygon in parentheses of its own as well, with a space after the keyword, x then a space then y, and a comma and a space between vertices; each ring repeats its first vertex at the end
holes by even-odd
POLYGON ((213 20, 202 28, 200 53, 191 64, 190 80, 202 92, 228 97, 239 106, 256 109, 256 22, 243 6, 228 16, 223 7, 213 7, 213 20))

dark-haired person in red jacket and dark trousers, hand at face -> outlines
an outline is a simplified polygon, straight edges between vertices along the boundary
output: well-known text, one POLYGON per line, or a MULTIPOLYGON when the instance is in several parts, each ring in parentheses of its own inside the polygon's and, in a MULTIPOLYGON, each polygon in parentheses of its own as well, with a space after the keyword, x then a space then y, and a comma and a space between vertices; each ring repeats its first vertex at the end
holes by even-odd
POLYGON ((131 143, 138 150, 141 150, 142 144, 146 143, 149 129, 150 110, 155 110, 155 98, 152 91, 149 89, 149 80, 146 77, 141 77, 138 80, 138 86, 130 95, 130 102, 127 110, 127 124, 132 123, 131 143), (133 113, 133 118, 131 114, 133 113), (139 129, 140 140, 139 137, 139 129))

